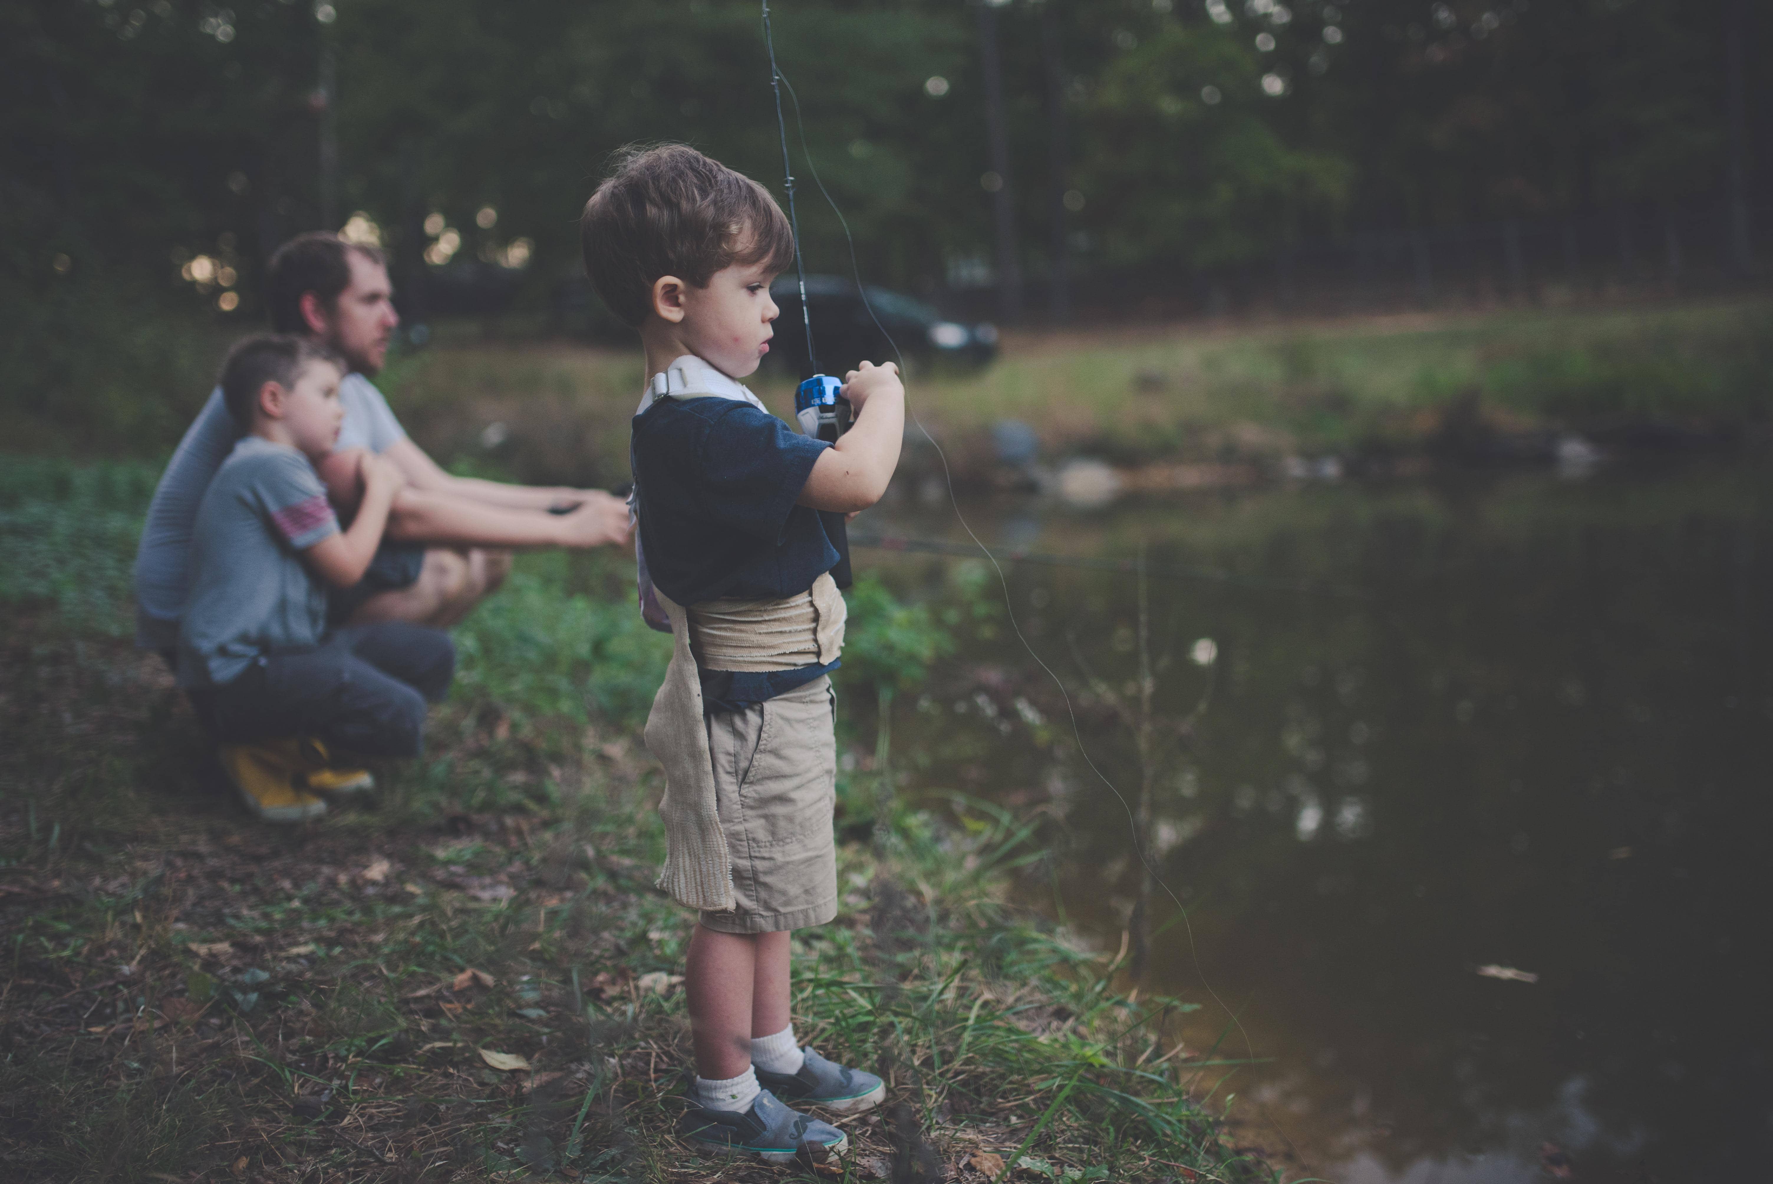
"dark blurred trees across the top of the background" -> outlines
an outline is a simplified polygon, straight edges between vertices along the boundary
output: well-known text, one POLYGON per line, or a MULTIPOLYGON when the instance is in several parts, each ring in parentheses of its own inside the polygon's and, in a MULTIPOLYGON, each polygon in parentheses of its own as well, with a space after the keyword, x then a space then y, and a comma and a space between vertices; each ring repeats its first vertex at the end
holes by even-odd
MULTIPOLYGON (((119 383, 199 379, 149 323, 254 323, 268 252, 353 211, 395 248, 406 296, 496 280, 543 308, 583 291, 574 216, 619 145, 686 140, 780 186, 755 0, 234 5, 0 0, 7 408, 112 392, 106 415, 158 440, 160 379, 119 383)), ((1718 248, 1746 259, 1766 209, 1769 74, 1746 57, 1759 5, 1009 0, 993 25, 1011 168, 1048 177, 1009 211, 1009 257, 1032 284, 1067 264, 1089 291, 1092 271, 1223 269, 1294 239, 1550 216, 1615 227, 1622 261, 1667 216, 1672 261, 1674 211, 1707 202, 1718 248), (1734 73, 1730 44, 1748 60, 1734 73)), ((970 5, 780 0, 775 28, 867 277, 988 284, 970 5)), ((808 266, 844 271, 812 188, 808 266)))

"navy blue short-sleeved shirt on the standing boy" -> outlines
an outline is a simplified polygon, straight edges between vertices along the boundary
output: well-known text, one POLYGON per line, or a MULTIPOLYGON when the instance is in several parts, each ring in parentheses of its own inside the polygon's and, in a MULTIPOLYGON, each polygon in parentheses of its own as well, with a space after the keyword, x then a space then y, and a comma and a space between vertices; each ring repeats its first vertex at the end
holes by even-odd
POLYGON ((633 418, 640 544, 679 604, 778 601, 837 565, 817 510, 796 505, 832 445, 738 399, 658 399, 633 418))

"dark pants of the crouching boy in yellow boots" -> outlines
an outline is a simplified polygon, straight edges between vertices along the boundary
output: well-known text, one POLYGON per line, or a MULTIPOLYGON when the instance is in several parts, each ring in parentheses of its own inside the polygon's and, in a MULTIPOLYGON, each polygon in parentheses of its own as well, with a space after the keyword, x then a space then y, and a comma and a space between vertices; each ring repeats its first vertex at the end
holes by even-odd
POLYGON ((443 698, 454 674, 447 633, 387 620, 257 658, 191 704, 223 744, 312 736, 360 757, 417 757, 426 702, 443 698))

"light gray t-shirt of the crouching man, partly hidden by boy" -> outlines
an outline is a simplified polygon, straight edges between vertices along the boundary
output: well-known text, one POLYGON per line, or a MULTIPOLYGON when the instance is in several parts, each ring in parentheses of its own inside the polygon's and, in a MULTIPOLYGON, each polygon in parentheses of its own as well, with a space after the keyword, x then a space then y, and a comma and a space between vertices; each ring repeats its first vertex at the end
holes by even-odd
MULTIPOLYGON (((388 401, 362 374, 346 376, 339 385, 339 402, 344 404, 337 445, 340 450, 387 452, 406 438, 388 401)), ((238 440, 239 427, 216 386, 179 441, 147 507, 142 544, 135 553, 135 643, 144 649, 177 645, 179 613, 184 611, 191 588, 191 526, 197 523, 197 507, 238 440)))

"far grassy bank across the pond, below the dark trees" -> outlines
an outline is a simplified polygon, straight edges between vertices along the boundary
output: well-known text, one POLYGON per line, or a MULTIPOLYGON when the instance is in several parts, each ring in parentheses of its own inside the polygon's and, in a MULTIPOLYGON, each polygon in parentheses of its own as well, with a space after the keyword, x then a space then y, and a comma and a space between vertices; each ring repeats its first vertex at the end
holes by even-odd
MULTIPOLYGON (((438 454, 576 482, 626 479, 638 385, 633 353, 486 344, 438 346, 385 383, 438 454)), ((754 386, 791 406, 782 376, 754 386)), ((1729 438, 1773 411, 1773 301, 1023 331, 988 370, 913 376, 911 402, 975 480, 1005 418, 1050 459, 1119 464, 1410 456, 1450 431, 1729 438)))

